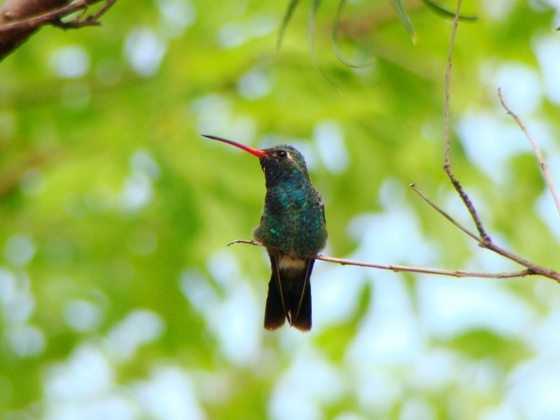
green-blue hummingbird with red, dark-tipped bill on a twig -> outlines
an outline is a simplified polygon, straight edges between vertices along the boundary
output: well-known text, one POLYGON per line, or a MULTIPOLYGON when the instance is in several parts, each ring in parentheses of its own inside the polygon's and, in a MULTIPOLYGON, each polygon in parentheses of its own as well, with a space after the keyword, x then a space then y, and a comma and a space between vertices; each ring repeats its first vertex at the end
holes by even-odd
POLYGON ((323 198, 311 185, 303 155, 287 144, 259 150, 222 137, 203 136, 255 155, 265 174, 265 205, 253 232, 267 248, 272 268, 265 329, 276 330, 287 319, 298 330, 311 330, 309 279, 328 235, 323 198))

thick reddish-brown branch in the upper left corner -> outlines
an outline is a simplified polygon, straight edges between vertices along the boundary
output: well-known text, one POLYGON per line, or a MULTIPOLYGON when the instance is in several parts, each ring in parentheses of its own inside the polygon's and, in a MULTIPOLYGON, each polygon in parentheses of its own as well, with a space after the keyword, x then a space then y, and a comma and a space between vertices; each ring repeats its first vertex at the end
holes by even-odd
POLYGON ((105 0, 96 13, 83 18, 94 3, 102 0, 8 0, 0 7, 0 61, 15 48, 27 41, 27 38, 43 25, 55 25, 64 29, 77 29, 85 26, 101 25, 99 18, 116 0, 105 0), (82 10, 76 19, 62 22, 70 13, 82 10))

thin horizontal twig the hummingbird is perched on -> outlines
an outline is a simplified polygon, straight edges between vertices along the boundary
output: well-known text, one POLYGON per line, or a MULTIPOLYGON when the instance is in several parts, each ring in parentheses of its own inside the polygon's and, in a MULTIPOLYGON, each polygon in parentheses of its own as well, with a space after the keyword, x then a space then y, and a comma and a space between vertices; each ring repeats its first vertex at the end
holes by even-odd
MULTIPOLYGON (((244 239, 237 239, 237 241, 231 241, 228 246, 232 244, 249 244, 255 246, 263 246, 258 241, 246 241, 244 239)), ((438 274, 440 276, 453 276, 453 277, 485 277, 491 279, 510 279, 512 277, 524 277, 536 274, 531 269, 524 269, 519 272, 502 272, 502 273, 482 273, 482 272, 468 272, 463 270, 449 270, 449 269, 439 269, 439 268, 428 268, 428 267, 410 267, 408 265, 386 265, 377 264, 375 262, 365 262, 356 260, 347 260, 345 258, 329 257, 328 255, 317 255, 316 260, 321 260, 325 262, 335 262, 340 265, 354 265, 358 267, 368 267, 377 269, 387 269, 392 272, 410 272, 410 273, 424 273, 424 274, 438 274)))

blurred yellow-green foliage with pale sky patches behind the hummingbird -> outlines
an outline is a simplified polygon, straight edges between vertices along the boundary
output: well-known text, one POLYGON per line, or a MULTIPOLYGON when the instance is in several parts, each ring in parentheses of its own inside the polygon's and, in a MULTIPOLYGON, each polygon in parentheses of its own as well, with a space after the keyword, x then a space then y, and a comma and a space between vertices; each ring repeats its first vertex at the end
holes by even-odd
MULTIPOLYGON (((407 188, 470 223, 442 171, 451 22, 402 2, 414 45, 389 1, 349 1, 338 18, 321 2, 314 57, 333 87, 310 58, 314 2, 291 2, 276 50, 288 3, 118 1, 103 27, 45 27, 1 63, 2 418, 555 418, 557 398, 524 393, 560 391, 560 375, 539 376, 560 370, 549 280, 317 263, 314 330, 262 330, 267 258, 225 247, 258 224, 262 174, 201 133, 299 148, 325 198, 329 255, 517 269, 407 188), (339 52, 370 66, 337 58, 337 19, 339 52)), ((505 83, 512 109, 524 105, 559 174, 559 104, 535 52, 560 43, 558 10, 464 3, 479 19, 456 38, 454 169, 498 243, 559 269, 557 214, 496 95, 505 83)))

